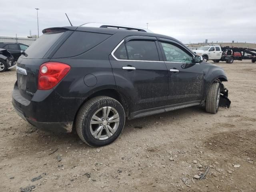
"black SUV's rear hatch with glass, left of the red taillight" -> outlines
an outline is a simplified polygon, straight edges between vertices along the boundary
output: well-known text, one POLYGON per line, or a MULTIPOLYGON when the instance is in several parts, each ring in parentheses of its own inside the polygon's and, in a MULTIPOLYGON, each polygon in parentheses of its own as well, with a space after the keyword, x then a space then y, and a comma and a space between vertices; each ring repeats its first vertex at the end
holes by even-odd
MULTIPOLYGON (((72 27, 70 27, 72 28, 72 27)), ((17 84, 20 94, 31 100, 38 88, 40 65, 48 62, 74 29, 49 28, 20 56, 17 61, 17 84), (25 71, 26 70, 26 71, 25 71)))

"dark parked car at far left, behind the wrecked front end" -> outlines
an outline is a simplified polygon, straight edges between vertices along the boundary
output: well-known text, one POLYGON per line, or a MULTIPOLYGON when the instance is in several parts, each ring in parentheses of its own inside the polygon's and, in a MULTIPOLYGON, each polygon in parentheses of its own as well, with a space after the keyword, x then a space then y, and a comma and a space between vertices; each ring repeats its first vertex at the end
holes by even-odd
POLYGON ((28 45, 22 43, 0 43, 0 48, 7 49, 14 57, 14 61, 17 61, 21 56, 21 51, 25 51, 28 45))

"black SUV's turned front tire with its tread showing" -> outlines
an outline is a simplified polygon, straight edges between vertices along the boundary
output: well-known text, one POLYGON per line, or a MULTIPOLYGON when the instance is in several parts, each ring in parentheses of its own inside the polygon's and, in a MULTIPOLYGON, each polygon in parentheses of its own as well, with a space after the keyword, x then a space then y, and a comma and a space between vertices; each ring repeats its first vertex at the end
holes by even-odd
POLYGON ((216 114, 220 104, 220 83, 213 82, 210 85, 205 101, 205 110, 208 113, 216 114))

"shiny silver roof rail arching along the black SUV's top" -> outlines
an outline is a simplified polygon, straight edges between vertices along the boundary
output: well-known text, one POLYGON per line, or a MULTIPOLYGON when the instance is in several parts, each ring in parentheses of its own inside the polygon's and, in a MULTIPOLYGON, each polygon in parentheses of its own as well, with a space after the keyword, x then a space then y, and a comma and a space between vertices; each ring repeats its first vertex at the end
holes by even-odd
POLYGON ((124 29, 124 30, 134 30, 134 31, 141 31, 141 32, 152 33, 151 30, 146 29, 146 28, 125 26, 125 25, 116 25, 116 24, 107 24, 107 23, 85 23, 85 24, 82 24, 80 26, 83 26, 83 27, 110 28, 110 29, 124 29))

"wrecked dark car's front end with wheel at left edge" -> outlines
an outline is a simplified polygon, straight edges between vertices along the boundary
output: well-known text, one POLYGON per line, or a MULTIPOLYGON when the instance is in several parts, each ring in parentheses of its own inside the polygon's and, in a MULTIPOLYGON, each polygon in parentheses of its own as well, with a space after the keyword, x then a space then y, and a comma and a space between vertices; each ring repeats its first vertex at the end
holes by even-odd
POLYGON ((0 48, 0 72, 4 72, 13 66, 14 58, 12 54, 8 50, 0 48))

